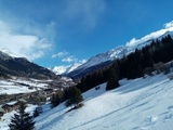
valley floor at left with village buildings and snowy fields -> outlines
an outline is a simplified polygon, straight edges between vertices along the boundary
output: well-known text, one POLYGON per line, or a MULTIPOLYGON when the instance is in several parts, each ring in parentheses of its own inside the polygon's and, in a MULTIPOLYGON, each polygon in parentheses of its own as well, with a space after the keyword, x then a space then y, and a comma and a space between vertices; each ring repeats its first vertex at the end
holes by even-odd
POLYGON ((61 77, 58 80, 35 80, 35 79, 9 79, 0 80, 0 120, 6 113, 16 110, 19 103, 37 105, 38 108, 45 103, 50 103, 52 95, 56 91, 62 91, 67 87, 75 86, 72 79, 61 77), (13 91, 15 89, 24 89, 21 93, 13 91), (8 90, 9 89, 9 90, 8 90), (12 90, 11 90, 12 89, 12 90), (5 90, 5 91, 4 91, 5 90))

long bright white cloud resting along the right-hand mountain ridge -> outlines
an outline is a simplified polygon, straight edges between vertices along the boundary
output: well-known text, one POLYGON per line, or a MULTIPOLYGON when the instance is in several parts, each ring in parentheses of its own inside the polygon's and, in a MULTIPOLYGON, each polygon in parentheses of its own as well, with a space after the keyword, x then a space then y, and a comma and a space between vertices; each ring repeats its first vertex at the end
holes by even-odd
POLYGON ((146 42, 150 39, 156 39, 156 38, 162 36, 163 34, 165 34, 167 31, 172 31, 173 30, 173 21, 164 24, 163 26, 164 26, 163 29, 160 29, 158 31, 146 35, 145 37, 143 37, 141 39, 132 38, 129 42, 127 42, 127 46, 128 47, 137 46, 137 44, 146 42))

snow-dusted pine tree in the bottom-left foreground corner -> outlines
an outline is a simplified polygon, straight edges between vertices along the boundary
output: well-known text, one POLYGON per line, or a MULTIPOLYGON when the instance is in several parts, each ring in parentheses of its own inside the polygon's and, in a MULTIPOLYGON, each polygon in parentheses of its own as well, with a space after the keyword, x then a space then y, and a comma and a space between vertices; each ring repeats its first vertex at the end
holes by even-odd
POLYGON ((21 103, 17 114, 14 114, 9 125, 10 130, 34 130, 35 121, 32 116, 25 112, 25 108, 26 104, 21 103))

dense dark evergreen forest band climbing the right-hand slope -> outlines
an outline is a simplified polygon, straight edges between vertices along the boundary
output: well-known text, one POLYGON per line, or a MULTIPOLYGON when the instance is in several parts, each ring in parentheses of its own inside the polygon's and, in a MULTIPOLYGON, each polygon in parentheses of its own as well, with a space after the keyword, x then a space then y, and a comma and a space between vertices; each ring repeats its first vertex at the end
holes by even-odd
POLYGON ((119 87, 119 79, 134 79, 144 76, 144 72, 148 67, 162 62, 167 63, 173 60, 173 39, 170 35, 160 41, 152 41, 143 49, 136 49, 121 60, 116 60, 110 66, 94 72, 83 77, 77 88, 85 92, 97 84, 107 82, 106 90, 119 87))

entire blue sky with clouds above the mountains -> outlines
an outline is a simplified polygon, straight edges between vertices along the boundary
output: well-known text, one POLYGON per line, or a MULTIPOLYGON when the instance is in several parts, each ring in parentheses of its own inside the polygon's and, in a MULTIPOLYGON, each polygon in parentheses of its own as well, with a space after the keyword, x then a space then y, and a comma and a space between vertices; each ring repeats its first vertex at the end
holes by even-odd
POLYGON ((69 65, 173 21, 171 0, 0 0, 0 49, 45 66, 69 65))

